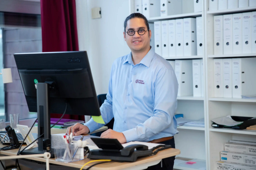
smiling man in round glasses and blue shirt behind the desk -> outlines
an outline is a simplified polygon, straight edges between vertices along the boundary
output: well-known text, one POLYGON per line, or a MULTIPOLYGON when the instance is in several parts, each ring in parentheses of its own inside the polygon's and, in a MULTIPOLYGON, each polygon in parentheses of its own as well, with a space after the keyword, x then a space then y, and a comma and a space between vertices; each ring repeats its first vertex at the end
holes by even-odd
MULTIPOLYGON (((107 99, 100 110, 105 123, 114 117, 114 128, 101 134, 120 143, 144 141, 172 145, 178 133, 174 113, 177 108, 178 82, 170 63, 150 46, 151 30, 145 16, 133 13, 124 23, 123 37, 131 49, 129 55, 114 61, 107 99)), ((67 134, 87 134, 104 126, 91 119, 75 124, 67 134)), ((174 157, 163 159, 158 167, 172 169, 174 157)))

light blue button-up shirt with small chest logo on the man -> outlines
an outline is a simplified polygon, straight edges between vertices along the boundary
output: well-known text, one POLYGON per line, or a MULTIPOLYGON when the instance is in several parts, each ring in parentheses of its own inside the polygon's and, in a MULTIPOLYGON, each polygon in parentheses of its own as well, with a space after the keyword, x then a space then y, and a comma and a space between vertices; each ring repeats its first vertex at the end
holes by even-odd
MULTIPOLYGON (((107 99, 100 107, 105 123, 114 117, 113 130, 126 141, 151 141, 174 136, 178 81, 171 64, 152 48, 139 64, 131 53, 114 61, 107 99)), ((104 126, 90 119, 90 132, 104 126)))

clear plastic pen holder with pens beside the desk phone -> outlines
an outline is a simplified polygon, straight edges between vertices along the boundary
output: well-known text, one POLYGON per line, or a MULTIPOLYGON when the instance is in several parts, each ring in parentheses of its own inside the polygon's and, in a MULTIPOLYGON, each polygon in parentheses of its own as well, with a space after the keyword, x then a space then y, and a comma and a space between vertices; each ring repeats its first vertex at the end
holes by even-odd
POLYGON ((54 156, 56 161, 60 162, 74 162, 84 159, 84 148, 78 148, 76 152, 76 143, 61 144, 54 149, 54 156), (74 155, 74 153, 76 154, 74 155), (73 158, 74 156, 74 158, 73 158), (72 160, 73 158, 73 160, 72 160))

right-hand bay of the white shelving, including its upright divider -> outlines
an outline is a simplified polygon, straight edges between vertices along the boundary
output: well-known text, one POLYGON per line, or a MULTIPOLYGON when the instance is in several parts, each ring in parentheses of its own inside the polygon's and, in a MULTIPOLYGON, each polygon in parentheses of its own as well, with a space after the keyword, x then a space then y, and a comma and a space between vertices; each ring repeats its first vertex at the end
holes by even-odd
MULTIPOLYGON (((227 115, 256 116, 256 100, 242 98, 214 97, 214 58, 248 58, 256 54, 214 55, 214 16, 256 11, 256 7, 208 11, 209 0, 204 0, 205 65, 206 67, 206 109, 207 109, 207 149, 208 170, 215 170, 215 162, 220 160, 220 152, 229 140, 256 141, 256 131, 231 128, 214 128, 212 119, 227 115)), ((255 63, 256 64, 256 63, 255 63)))

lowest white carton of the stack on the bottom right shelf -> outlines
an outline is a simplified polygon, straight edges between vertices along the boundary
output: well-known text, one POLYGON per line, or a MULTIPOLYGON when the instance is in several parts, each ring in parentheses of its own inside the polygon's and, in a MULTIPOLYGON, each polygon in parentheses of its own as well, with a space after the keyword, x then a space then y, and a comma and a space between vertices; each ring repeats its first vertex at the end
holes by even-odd
POLYGON ((216 170, 256 170, 256 166, 236 162, 217 161, 216 170))

